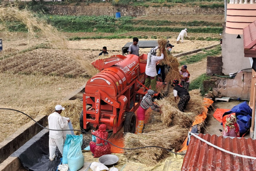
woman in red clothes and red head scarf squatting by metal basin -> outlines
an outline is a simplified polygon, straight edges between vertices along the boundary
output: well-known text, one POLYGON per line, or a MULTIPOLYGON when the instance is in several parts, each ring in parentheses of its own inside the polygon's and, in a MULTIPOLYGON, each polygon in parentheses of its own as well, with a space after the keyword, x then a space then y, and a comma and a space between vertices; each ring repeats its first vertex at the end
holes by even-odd
MULTIPOLYGON (((106 140, 109 134, 106 131, 106 128, 107 126, 105 124, 101 124, 98 130, 96 130, 95 132, 93 132, 92 130, 92 134, 106 140)), ((100 157, 105 154, 110 154, 110 144, 98 137, 96 137, 96 143, 93 141, 90 142, 90 150, 92 151, 93 156, 100 157)))

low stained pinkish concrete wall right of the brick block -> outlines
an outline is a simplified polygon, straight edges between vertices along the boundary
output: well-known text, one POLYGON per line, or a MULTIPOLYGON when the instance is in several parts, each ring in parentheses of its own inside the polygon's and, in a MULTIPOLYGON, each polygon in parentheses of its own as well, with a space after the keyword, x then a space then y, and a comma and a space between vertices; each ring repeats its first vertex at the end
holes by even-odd
POLYGON ((213 88, 215 95, 222 97, 250 99, 252 72, 239 72, 235 78, 219 78, 213 88))

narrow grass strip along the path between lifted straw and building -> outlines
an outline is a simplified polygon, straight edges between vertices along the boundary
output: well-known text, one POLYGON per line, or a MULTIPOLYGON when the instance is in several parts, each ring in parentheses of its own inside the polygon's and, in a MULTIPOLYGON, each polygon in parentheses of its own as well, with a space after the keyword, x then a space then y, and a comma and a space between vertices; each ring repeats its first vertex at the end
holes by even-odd
POLYGON ((217 47, 210 49, 210 50, 203 50, 206 53, 198 53, 196 55, 192 55, 192 56, 183 56, 181 57, 181 62, 180 64, 192 64, 192 63, 197 63, 201 60, 203 60, 204 58, 206 58, 207 56, 216 56, 221 54, 221 46, 218 45, 217 47))

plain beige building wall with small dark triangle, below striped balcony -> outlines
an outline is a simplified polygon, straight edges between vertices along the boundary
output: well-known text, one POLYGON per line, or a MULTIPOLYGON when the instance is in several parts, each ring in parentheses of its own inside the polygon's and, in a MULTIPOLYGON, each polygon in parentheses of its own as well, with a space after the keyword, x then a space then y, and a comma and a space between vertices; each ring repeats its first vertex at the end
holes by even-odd
MULTIPOLYGON (((224 31, 223 31, 224 32, 224 31)), ((222 72, 225 75, 241 69, 251 68, 249 58, 244 57, 243 35, 223 34, 222 41, 222 72)))

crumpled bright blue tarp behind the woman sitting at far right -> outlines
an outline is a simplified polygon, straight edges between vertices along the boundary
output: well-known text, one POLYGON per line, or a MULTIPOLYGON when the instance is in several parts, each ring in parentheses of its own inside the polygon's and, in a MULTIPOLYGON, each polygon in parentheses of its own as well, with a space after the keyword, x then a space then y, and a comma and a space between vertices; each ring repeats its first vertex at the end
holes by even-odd
POLYGON ((239 125, 240 136, 250 130, 252 122, 252 109, 246 102, 234 106, 230 111, 225 112, 223 116, 235 113, 236 122, 239 125))

